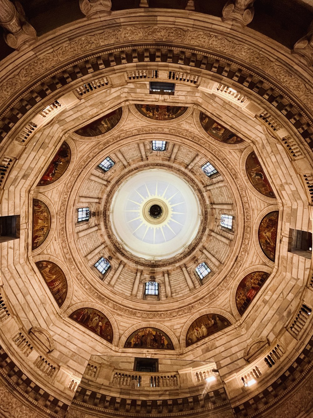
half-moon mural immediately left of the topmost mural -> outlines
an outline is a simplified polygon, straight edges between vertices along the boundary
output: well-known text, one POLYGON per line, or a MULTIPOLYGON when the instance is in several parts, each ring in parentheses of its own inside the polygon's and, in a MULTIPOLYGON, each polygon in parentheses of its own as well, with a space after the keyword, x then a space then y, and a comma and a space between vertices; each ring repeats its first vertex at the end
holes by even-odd
POLYGON ((99 119, 94 120, 88 125, 85 125, 75 131, 77 135, 86 136, 90 138, 91 136, 103 135, 104 133, 109 132, 111 129, 116 126, 122 117, 122 108, 119 107, 113 112, 108 113, 105 116, 101 116, 99 119))

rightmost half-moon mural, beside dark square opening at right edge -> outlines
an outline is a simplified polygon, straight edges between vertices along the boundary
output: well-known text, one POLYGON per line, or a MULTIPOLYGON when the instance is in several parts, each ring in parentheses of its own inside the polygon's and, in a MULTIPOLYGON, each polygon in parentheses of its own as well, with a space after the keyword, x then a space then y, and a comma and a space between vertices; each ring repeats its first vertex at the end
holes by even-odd
POLYGON ((275 261, 277 226, 278 211, 270 212, 262 219, 257 233, 260 247, 271 261, 275 261))

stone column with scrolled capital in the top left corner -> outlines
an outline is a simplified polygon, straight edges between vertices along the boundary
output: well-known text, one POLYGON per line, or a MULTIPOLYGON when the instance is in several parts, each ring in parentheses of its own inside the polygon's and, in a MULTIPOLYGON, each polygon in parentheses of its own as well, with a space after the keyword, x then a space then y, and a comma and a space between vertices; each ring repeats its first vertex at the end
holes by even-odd
POLYGON ((19 3, 15 6, 10 0, 0 0, 0 25, 9 32, 4 38, 11 48, 20 49, 36 39, 36 31, 26 22, 24 10, 19 3))

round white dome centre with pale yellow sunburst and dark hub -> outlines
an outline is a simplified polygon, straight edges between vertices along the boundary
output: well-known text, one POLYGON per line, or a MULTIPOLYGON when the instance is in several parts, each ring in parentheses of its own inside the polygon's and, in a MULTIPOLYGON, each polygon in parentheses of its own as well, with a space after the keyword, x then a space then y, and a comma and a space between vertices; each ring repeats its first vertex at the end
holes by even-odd
POLYGON ((192 242, 199 229, 200 205, 182 178, 165 169, 150 169, 121 184, 110 220, 126 250, 159 260, 182 252, 192 242))

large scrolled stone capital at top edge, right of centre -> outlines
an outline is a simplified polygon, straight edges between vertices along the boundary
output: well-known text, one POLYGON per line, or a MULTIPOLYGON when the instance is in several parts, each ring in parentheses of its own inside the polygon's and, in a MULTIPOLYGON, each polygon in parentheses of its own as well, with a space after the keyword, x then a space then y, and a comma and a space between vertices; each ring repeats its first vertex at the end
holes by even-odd
POLYGON ((254 0, 228 0, 222 11, 222 20, 232 20, 242 26, 247 25, 253 19, 254 0))

